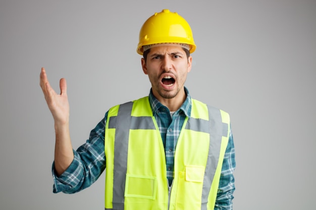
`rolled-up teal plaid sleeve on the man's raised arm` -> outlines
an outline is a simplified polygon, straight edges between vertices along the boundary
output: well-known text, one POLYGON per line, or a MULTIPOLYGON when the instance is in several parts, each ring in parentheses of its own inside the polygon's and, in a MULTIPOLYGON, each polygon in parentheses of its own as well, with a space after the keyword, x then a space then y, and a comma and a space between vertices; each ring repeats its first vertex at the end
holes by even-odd
POLYGON ((52 164, 54 179, 53 192, 75 193, 93 184, 106 168, 104 154, 104 133, 108 112, 91 130, 89 139, 74 152, 74 160, 60 176, 56 175, 52 164))

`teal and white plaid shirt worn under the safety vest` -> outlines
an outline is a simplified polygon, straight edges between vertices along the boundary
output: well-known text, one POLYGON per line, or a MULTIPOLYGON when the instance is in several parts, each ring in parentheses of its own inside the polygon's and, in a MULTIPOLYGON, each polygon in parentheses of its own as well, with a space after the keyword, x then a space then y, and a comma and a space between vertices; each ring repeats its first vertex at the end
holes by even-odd
MULTIPOLYGON (((174 177, 175 149, 186 116, 191 115, 191 97, 185 88, 187 97, 182 106, 171 116, 169 109, 162 105, 149 93, 149 103, 153 116, 159 126, 166 154, 167 178, 171 185, 174 177)), ((104 154, 104 129, 108 112, 105 117, 91 130, 89 139, 74 151, 75 158, 68 169, 59 177, 52 165, 54 178, 53 192, 75 193, 89 187, 106 168, 104 154)), ((232 132, 230 131, 228 146, 223 160, 215 209, 232 209, 233 192, 235 190, 233 171, 235 170, 235 149, 232 132)))

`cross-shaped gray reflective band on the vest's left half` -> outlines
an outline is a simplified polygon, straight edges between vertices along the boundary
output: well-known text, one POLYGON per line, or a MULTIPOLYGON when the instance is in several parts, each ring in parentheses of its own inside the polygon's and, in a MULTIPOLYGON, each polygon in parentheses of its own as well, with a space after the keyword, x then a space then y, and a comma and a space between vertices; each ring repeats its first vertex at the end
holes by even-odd
POLYGON ((130 129, 156 129, 152 117, 131 116, 133 102, 120 105, 118 116, 109 119, 109 128, 115 129, 113 169, 113 209, 124 209, 127 172, 127 153, 130 129))

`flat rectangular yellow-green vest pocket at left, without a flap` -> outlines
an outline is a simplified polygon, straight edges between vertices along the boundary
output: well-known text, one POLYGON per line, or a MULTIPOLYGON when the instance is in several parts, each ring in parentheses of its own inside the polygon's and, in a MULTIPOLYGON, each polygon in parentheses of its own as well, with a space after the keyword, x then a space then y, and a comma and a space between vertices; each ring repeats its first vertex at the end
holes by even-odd
POLYGON ((126 174, 125 197, 155 199, 156 189, 156 177, 126 174))

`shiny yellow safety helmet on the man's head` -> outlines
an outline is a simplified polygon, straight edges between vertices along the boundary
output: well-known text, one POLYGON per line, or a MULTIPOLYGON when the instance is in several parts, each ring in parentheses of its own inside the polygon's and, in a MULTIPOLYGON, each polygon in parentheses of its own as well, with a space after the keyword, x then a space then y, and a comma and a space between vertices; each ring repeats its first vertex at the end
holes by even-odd
POLYGON ((137 53, 142 55, 143 46, 159 43, 183 43, 190 46, 190 53, 196 45, 188 22, 178 13, 163 10, 148 18, 139 32, 137 53))

